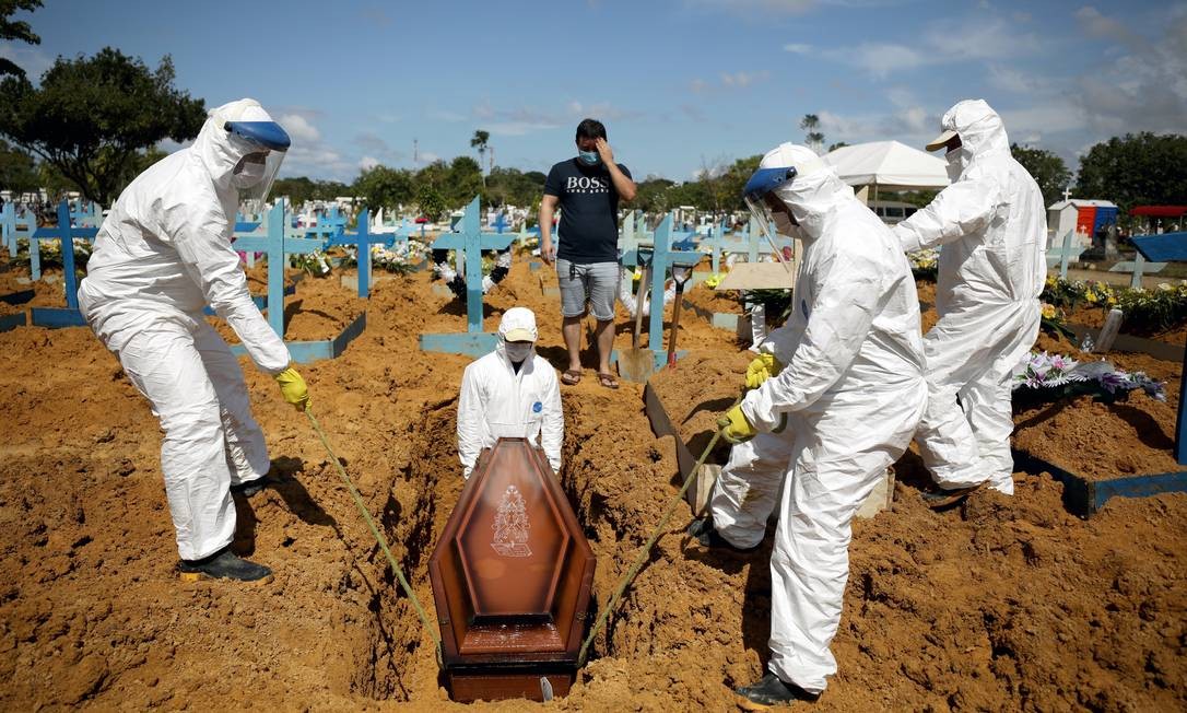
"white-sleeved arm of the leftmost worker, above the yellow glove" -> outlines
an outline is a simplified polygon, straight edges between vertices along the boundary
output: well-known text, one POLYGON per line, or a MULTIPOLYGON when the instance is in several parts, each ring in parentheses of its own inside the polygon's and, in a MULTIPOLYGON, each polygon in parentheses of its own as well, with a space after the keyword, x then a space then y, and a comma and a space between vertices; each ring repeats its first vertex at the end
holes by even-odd
POLYGON ((230 222, 221 212, 195 220, 195 212, 186 208, 166 210, 161 221, 186 273, 261 371, 273 376, 285 371, 291 361, 288 348, 252 301, 239 253, 230 246, 230 222))

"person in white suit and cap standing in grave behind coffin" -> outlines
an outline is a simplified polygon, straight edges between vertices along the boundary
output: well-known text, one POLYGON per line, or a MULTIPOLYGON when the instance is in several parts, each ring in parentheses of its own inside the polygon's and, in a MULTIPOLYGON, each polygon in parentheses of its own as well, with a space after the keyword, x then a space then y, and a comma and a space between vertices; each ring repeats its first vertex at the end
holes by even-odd
POLYGON ((457 454, 470 478, 478 455, 501 437, 527 438, 560 472, 565 415, 557 372, 535 353, 535 315, 513 307, 499 322, 495 351, 465 367, 457 404, 457 454))

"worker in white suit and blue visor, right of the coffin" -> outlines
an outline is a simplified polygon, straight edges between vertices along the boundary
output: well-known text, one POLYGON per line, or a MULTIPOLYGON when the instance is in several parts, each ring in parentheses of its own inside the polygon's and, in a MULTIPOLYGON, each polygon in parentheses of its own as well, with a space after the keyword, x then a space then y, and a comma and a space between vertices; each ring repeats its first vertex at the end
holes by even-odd
POLYGON ((737 444, 711 519, 690 534, 710 547, 754 548, 780 498, 770 662, 737 690, 743 705, 777 705, 814 700, 837 671, 829 645, 849 576, 850 524, 909 444, 927 387, 910 266, 833 169, 782 144, 762 158, 745 200, 761 221, 799 238, 804 254, 792 316, 751 362, 754 389, 719 422, 737 444))

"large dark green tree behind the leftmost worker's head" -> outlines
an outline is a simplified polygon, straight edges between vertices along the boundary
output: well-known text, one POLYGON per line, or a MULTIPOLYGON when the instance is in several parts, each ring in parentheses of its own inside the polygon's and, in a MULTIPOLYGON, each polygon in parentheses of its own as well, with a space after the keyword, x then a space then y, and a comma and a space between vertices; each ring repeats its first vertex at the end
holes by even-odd
POLYGON ((202 128, 204 102, 176 89, 173 77, 167 55, 155 71, 112 48, 91 58, 58 57, 40 87, 23 76, 0 82, 0 134, 110 206, 142 150, 202 128))

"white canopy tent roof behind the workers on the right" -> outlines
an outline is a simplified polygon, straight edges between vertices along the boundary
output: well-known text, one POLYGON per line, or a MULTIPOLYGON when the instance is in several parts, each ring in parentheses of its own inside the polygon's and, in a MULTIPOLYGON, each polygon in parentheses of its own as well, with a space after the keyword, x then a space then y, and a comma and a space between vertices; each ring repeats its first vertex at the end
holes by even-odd
POLYGON ((824 156, 849 185, 869 185, 877 197, 884 190, 939 190, 948 184, 942 158, 899 141, 842 146, 824 156))

